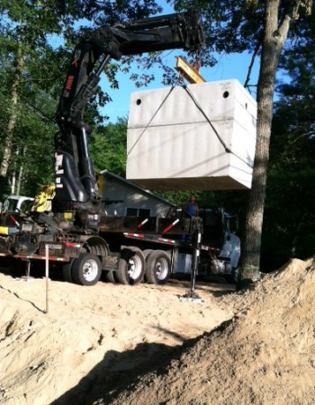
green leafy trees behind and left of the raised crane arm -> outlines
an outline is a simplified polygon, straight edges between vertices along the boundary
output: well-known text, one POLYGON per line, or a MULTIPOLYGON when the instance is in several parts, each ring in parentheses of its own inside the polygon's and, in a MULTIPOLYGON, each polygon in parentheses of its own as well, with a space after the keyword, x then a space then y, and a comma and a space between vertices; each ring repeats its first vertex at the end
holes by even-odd
MULTIPOLYGON (((3 17, 0 23, 0 36, 2 39, 2 49, 0 49, 0 69, 7 77, 4 85, 4 94, 0 92, 0 97, 4 95, 5 106, 2 111, 3 127, 2 133, 3 156, 0 162, 0 194, 4 193, 4 178, 8 174, 15 175, 14 160, 23 159, 23 165, 27 165, 33 154, 31 148, 24 148, 27 136, 19 131, 29 130, 26 128, 23 117, 26 118, 27 111, 35 117, 35 110, 44 117, 45 114, 37 103, 38 94, 46 92, 47 97, 58 96, 62 85, 60 76, 64 78, 67 71, 69 54, 74 49, 82 32, 74 31, 78 24, 84 25, 84 29, 99 27, 103 24, 126 22, 130 19, 146 17, 161 11, 161 7, 151 0, 132 0, 125 2, 94 0, 31 0, 31 1, 8 1, 4 0, 0 4, 0 15, 3 17), (81 18, 81 20, 79 20, 81 18), (87 27, 86 27, 87 26, 87 27), (56 49, 51 46, 51 38, 59 35, 61 45, 56 49), (17 144, 17 139, 21 135, 21 143, 17 144), (23 146, 23 154, 21 153, 23 146), (15 159, 16 157, 16 159, 15 159)), ((82 27, 81 27, 82 28, 82 27)), ((126 70, 130 67, 130 60, 126 58, 126 70)), ((117 65, 114 62, 106 69, 112 86, 117 86, 115 81, 115 71, 117 65)), ((145 75, 144 75, 145 76, 145 75)), ((101 88, 98 89, 92 103, 86 108, 85 118, 89 123, 103 123, 103 116, 98 113, 96 105, 103 106, 110 101, 109 96, 101 88)), ((1 108, 1 107, 0 107, 1 108)), ((51 129, 55 124, 54 112, 52 110, 48 117, 51 122, 51 129)), ((49 111, 50 113, 50 111, 49 111)), ((31 119, 27 119, 31 122, 31 119)), ((34 121, 33 121, 34 122, 34 121)), ((33 127, 32 127, 33 130, 33 127)), ((39 135, 39 130, 33 131, 39 135)), ((31 133, 31 130, 30 130, 31 133)), ((51 144, 52 132, 49 130, 51 144)), ((45 138, 45 137, 44 137, 45 138)), ((39 138, 37 138, 37 141, 39 138)), ((31 141, 31 139, 30 139, 31 141)), ((46 139, 44 142, 46 143, 46 139)), ((47 144, 47 143, 46 143, 47 144)), ((53 157, 53 153, 51 153, 53 157)), ((45 170, 40 170, 44 172, 45 170)), ((20 170, 20 173, 22 171, 20 170)), ((24 170, 25 173, 25 170, 24 170)), ((0 195, 1 198, 1 195, 0 195)))

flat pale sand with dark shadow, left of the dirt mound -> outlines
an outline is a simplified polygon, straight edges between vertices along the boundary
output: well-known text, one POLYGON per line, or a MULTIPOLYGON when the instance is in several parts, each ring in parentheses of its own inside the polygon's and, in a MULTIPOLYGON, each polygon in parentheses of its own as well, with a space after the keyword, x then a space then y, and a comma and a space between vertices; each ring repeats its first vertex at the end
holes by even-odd
POLYGON ((184 341, 232 316, 216 295, 229 284, 198 284, 203 303, 181 302, 189 281, 84 287, 0 273, 0 402, 92 403, 101 390, 161 365, 184 341), (93 396, 92 396, 93 393, 93 396))

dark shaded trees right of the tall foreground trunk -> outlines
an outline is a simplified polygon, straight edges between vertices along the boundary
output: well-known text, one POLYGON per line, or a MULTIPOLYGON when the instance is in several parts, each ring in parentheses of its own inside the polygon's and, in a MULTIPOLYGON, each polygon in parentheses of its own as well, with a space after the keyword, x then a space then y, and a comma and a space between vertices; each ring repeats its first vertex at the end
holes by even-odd
POLYGON ((266 269, 278 268, 291 257, 305 259, 314 254, 315 27, 312 18, 302 18, 299 28, 301 35, 284 49, 281 58, 289 80, 284 77, 276 89, 279 99, 275 102, 270 143, 261 253, 262 266, 266 269))

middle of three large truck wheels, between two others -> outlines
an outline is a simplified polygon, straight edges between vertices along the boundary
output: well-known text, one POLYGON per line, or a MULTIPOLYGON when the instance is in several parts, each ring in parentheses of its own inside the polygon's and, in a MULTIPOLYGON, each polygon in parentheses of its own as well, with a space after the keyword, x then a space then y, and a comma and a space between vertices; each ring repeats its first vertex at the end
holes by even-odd
POLYGON ((117 281, 121 284, 137 285, 142 282, 145 272, 145 258, 139 247, 121 250, 117 281))

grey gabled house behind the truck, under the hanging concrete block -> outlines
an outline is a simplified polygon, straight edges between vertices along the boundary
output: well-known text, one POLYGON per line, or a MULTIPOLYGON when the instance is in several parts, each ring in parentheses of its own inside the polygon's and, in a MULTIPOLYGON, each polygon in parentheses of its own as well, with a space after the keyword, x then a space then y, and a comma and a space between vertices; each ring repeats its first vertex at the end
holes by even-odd
POLYGON ((170 202, 138 184, 102 170, 97 180, 102 194, 102 211, 108 215, 154 217, 166 216, 175 202, 170 202))

